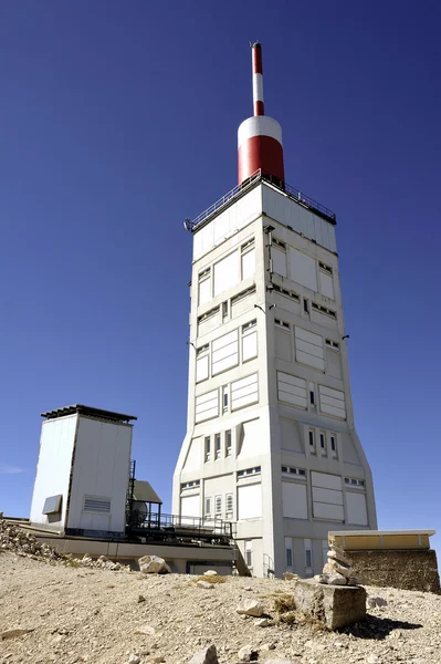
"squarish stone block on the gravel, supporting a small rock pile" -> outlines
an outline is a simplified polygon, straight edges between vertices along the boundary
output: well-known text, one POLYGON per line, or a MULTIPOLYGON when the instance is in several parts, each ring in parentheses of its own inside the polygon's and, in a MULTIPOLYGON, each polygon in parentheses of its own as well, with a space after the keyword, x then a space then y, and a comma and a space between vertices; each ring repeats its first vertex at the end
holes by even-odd
POLYGON ((366 590, 360 585, 323 585, 300 579, 294 588, 296 609, 328 630, 366 619, 366 590))

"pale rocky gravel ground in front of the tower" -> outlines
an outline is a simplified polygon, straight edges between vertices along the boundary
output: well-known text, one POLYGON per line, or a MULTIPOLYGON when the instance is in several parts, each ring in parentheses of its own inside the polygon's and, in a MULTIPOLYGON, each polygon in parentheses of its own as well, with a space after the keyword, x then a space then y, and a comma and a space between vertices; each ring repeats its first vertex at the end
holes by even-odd
MULTIPOLYGON (((441 596, 368 588, 386 606, 338 633, 297 619, 279 622, 277 595, 290 583, 229 577, 200 588, 195 577, 143 575, 126 569, 75 567, 64 561, 0 552, 0 663, 185 664, 216 644, 220 664, 287 658, 300 664, 441 662, 441 596), (239 615, 254 598, 275 619, 239 615), (21 630, 22 632, 13 632, 21 630), (239 654, 243 646, 251 646, 239 654), (133 655, 137 655, 134 657, 133 655)), ((280 602, 279 602, 280 604, 280 602)))

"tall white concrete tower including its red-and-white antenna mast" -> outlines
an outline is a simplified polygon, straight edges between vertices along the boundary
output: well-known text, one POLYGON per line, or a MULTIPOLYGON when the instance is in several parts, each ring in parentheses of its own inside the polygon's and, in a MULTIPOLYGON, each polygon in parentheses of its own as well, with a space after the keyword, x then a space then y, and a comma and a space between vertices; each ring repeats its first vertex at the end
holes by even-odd
POLYGON ((377 527, 374 487, 354 425, 336 218, 284 181, 258 43, 253 79, 239 186, 187 224, 188 426, 172 509, 234 521, 255 575, 312 575, 329 530, 377 527))

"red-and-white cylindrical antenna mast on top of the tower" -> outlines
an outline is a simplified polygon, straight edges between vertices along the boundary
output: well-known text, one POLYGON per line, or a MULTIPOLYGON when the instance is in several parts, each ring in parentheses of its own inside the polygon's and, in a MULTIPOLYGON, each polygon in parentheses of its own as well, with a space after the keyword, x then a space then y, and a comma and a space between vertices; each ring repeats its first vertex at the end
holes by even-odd
POLYGON ((282 127, 264 115, 262 45, 252 44, 253 62, 253 117, 249 117, 238 131, 239 184, 256 170, 272 176, 280 184, 285 181, 283 167, 282 127))

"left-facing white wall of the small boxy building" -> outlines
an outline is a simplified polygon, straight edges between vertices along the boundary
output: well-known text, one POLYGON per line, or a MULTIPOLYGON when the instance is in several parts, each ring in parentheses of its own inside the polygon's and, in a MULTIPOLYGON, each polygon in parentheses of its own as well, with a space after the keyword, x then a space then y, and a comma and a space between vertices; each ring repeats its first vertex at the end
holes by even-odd
POLYGON ((42 424, 30 515, 33 523, 48 523, 48 515, 43 515, 44 501, 50 496, 61 495, 62 512, 57 523, 64 525, 76 419, 77 416, 72 415, 42 424))

